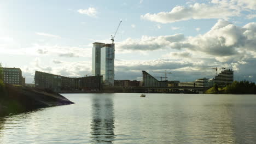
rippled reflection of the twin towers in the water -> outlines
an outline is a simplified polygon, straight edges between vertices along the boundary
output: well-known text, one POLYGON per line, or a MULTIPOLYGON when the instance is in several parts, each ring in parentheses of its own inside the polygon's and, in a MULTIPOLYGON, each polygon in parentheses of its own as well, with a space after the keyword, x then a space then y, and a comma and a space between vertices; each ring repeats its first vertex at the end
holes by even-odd
POLYGON ((114 134, 114 110, 110 98, 92 99, 91 138, 94 143, 112 143, 114 134))

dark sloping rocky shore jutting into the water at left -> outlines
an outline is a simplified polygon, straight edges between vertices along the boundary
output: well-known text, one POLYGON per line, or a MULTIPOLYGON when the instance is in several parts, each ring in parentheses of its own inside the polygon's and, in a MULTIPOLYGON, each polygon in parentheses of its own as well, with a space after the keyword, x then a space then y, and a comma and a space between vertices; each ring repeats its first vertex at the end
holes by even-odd
POLYGON ((47 89, 5 85, 0 91, 0 116, 49 106, 74 104, 47 89))

